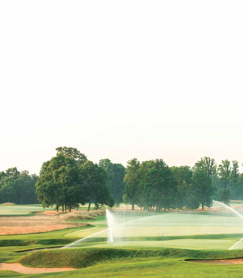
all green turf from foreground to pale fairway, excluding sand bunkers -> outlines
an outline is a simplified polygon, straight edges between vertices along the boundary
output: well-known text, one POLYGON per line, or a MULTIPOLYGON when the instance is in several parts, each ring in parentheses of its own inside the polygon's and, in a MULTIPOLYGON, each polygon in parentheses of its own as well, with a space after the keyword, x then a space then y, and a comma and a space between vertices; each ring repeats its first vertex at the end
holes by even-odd
MULTIPOLYGON (((17 252, 66 245, 107 228, 105 216, 96 216, 92 221, 75 221, 90 222, 92 226, 0 236, 0 262, 21 262, 32 267, 76 267, 79 270, 33 275, 0 271, 0 278, 242 278, 243 265, 185 261, 243 257, 242 249, 226 250, 243 237, 243 222, 228 212, 225 215, 131 213, 117 218, 117 224, 130 222, 114 231, 113 243, 107 243, 107 233, 101 233, 78 243, 82 248, 49 249, 28 254, 17 252), (163 247, 161 229, 164 232, 163 247)), ((239 247, 243 248, 243 244, 239 247)))

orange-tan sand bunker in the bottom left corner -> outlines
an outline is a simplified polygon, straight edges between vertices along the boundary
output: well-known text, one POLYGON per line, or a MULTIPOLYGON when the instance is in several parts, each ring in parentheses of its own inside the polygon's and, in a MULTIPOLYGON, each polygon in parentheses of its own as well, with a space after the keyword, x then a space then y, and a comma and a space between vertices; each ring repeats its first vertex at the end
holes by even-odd
POLYGON ((20 263, 0 263, 0 270, 13 270, 22 274, 35 274, 35 273, 47 273, 47 272, 60 272, 77 270, 73 267, 26 267, 20 263))

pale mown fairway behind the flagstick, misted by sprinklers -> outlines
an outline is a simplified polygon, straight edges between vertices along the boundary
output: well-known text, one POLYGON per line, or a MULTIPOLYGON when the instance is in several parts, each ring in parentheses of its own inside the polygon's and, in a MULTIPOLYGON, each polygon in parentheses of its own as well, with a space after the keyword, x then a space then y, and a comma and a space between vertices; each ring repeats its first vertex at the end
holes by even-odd
MULTIPOLYGON (((117 218, 113 229, 114 237, 186 236, 205 234, 237 234, 243 232, 243 221, 238 217, 223 217, 218 215, 196 214, 159 214, 148 217, 117 218)), ((86 237, 107 229, 107 221, 95 222, 95 227, 80 230, 65 236, 86 237)), ((95 237, 106 237, 108 231, 101 232, 95 237)))

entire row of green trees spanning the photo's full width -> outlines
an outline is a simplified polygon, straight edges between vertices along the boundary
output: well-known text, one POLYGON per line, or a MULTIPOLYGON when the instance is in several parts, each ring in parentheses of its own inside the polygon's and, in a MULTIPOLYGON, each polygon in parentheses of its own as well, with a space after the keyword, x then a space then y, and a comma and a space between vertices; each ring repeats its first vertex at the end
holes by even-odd
POLYGON ((91 203, 95 208, 117 208, 124 202, 141 209, 160 212, 177 208, 212 206, 212 200, 228 204, 243 199, 243 174, 238 161, 203 157, 193 167, 169 167, 163 159, 139 162, 127 167, 101 159, 98 164, 76 148, 58 147, 56 156, 42 164, 39 176, 21 173, 16 167, 0 172, 0 202, 56 206, 71 211, 91 203))

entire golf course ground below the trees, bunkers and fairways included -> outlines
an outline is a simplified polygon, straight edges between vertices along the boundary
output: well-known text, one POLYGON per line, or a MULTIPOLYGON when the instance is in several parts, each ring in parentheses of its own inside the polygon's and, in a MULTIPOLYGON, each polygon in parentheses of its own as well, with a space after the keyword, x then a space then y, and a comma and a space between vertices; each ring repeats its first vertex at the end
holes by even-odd
MULTIPOLYGON (((242 204, 237 205, 242 215, 242 204)), ((218 204, 169 213, 132 211, 124 204, 109 214, 106 209, 88 213, 85 206, 54 212, 38 205, 0 205, 0 222, 14 220, 15 228, 18 221, 29 223, 24 234, 7 234, 1 224, 6 235, 0 236, 0 277, 242 277, 243 219, 218 204), (75 226, 32 233, 41 221, 75 226)))

